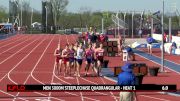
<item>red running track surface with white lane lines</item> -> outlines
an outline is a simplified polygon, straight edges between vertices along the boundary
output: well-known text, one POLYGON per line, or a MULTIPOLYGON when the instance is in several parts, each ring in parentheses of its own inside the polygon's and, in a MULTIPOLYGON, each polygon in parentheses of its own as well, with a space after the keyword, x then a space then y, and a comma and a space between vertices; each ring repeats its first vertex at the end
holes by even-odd
MULTIPOLYGON (((10 37, 9 39, 1 40, 0 100, 119 100, 118 92, 6 92, 7 84, 116 84, 116 82, 104 77, 83 77, 84 68, 81 69, 82 77, 67 78, 56 75, 54 71, 55 69, 53 53, 55 48, 57 47, 57 44, 60 43, 61 46, 64 47, 66 42, 74 43, 76 38, 77 36, 75 35, 16 35, 10 37)), ((120 65, 122 63, 120 62, 120 57, 108 57, 108 59, 111 59, 110 66, 113 66, 112 64, 120 65)), ((152 62, 149 62, 141 57, 137 57, 137 60, 154 65, 152 62)), ((166 80, 164 82, 169 82, 170 79, 176 76, 176 78, 178 79, 179 75, 172 71, 169 72, 170 73, 168 74, 162 74, 162 77, 160 78, 147 76, 145 77, 143 83, 160 84, 163 83, 162 80, 166 80)), ((177 80, 170 80, 170 82, 177 83, 177 80)), ((138 92, 137 95, 138 101, 178 101, 179 99, 179 97, 162 95, 155 92, 138 92)))

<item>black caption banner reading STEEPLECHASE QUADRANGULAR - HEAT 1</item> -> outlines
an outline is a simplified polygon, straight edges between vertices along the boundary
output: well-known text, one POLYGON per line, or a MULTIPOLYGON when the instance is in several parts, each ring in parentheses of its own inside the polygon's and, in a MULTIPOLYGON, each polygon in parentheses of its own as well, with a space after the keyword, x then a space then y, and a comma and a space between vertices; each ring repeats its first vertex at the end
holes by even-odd
POLYGON ((7 85, 8 92, 60 91, 176 91, 176 85, 7 85))

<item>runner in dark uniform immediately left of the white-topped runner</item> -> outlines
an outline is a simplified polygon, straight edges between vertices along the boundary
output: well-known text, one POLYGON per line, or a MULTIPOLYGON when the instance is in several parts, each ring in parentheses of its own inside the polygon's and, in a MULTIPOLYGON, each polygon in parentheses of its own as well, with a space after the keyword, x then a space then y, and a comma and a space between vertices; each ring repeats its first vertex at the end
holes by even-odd
POLYGON ((69 46, 69 67, 70 67, 70 75, 71 75, 71 70, 74 69, 74 62, 75 62, 75 50, 73 49, 74 45, 71 44, 69 46))

